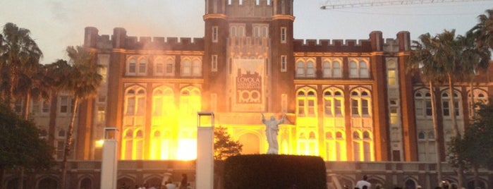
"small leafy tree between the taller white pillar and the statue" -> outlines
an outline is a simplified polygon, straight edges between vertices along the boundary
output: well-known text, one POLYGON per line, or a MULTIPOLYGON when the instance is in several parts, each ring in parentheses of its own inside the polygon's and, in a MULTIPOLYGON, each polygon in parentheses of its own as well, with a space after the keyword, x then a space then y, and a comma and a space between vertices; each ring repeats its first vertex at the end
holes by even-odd
POLYGON ((241 154, 243 145, 238 141, 233 141, 226 132, 226 128, 214 128, 214 159, 224 160, 231 156, 241 154))

